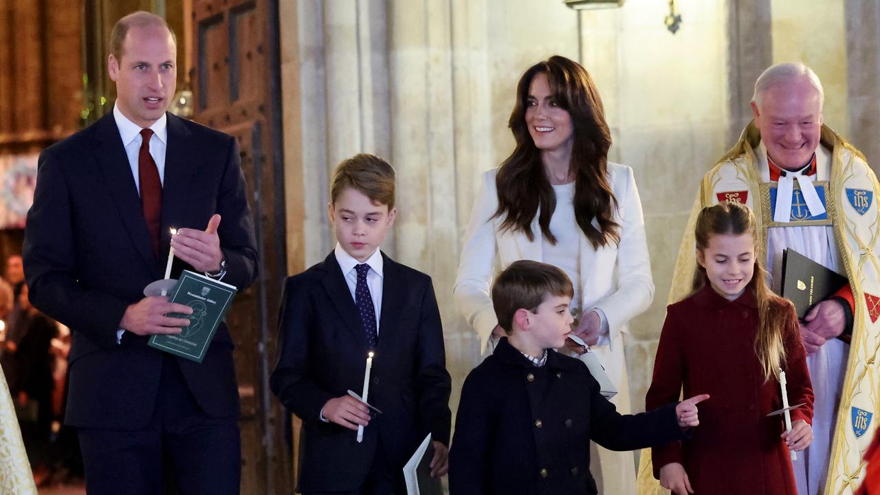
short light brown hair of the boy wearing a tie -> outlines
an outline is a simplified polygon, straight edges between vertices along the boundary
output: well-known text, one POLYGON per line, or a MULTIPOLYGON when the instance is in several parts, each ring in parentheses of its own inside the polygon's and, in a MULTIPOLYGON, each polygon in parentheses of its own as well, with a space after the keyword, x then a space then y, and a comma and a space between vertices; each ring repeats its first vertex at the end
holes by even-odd
POLYGON ((336 166, 331 203, 336 203, 345 188, 363 193, 373 203, 387 204, 389 211, 394 208, 394 169, 376 155, 360 153, 336 166))

